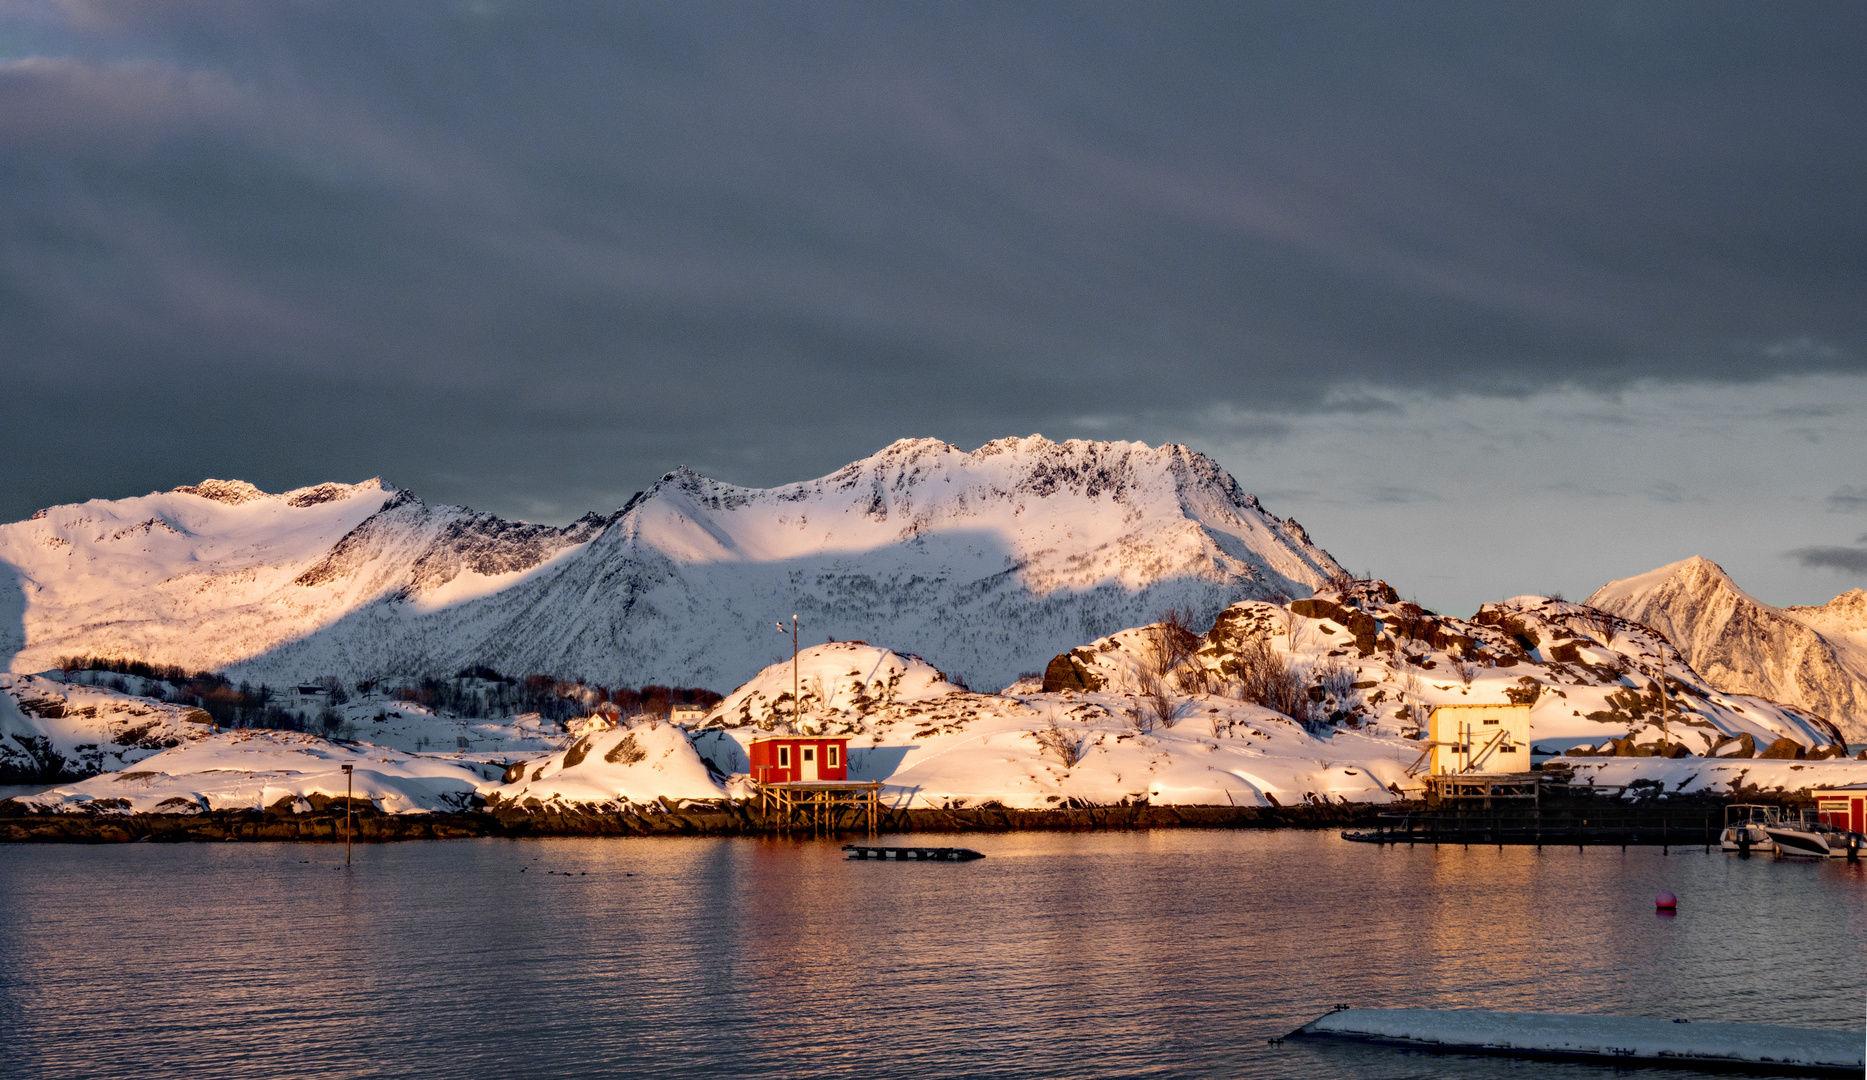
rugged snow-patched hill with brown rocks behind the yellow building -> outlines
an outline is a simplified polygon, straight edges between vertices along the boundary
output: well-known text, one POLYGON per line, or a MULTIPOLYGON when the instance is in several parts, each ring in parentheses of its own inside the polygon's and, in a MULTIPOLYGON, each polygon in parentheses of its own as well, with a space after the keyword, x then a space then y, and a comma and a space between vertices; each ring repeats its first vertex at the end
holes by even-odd
MULTIPOLYGON (((1146 693, 1156 628, 1135 628, 1074 648, 1046 686, 1146 693)), ((1581 604, 1518 596, 1451 618, 1402 602, 1380 581, 1324 589, 1290 604, 1227 609, 1167 689, 1240 693, 1262 645, 1307 689, 1296 710, 1316 723, 1417 731, 1436 704, 1531 704, 1540 747, 1606 753, 1749 757, 1777 740, 1833 755, 1818 718, 1761 697, 1723 693, 1645 626, 1581 604), (1665 671, 1662 729, 1658 673, 1665 671), (1617 744, 1617 746, 1611 746, 1617 744)), ((1288 710, 1286 710, 1288 712, 1288 710)))

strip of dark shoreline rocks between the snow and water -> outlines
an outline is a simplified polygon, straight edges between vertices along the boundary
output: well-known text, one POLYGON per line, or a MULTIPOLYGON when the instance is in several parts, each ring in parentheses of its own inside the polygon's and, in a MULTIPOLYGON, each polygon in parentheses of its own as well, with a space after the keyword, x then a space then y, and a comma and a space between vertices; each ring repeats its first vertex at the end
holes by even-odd
MULTIPOLYGON (((1070 809, 889 809, 881 831, 1012 831, 1012 830, 1152 830, 1152 828, 1344 828, 1367 824, 1391 805, 1100 805, 1070 809)), ((35 815, 0 803, 0 843, 134 843, 134 841, 344 841, 344 800, 317 800, 306 813, 289 803, 267 811, 194 815, 35 815)), ((751 803, 631 807, 493 807, 461 813, 385 815, 358 805, 357 843, 467 837, 745 837, 786 835, 751 803)), ((835 835, 859 835, 836 830, 835 835)), ((788 835, 810 835, 792 828, 788 835)))

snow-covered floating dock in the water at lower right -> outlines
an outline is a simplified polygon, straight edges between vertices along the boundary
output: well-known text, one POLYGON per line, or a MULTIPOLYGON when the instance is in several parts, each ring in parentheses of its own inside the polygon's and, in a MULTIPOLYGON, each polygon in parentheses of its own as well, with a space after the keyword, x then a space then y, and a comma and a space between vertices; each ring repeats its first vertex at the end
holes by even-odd
POLYGON ((1637 1016, 1488 1013, 1479 1009, 1339 1009, 1292 1037, 1389 1043, 1417 1050, 1572 1058, 1641 1065, 1740 1067, 1792 1076, 1860 1076, 1861 1031, 1770 1024, 1688 1024, 1637 1016))

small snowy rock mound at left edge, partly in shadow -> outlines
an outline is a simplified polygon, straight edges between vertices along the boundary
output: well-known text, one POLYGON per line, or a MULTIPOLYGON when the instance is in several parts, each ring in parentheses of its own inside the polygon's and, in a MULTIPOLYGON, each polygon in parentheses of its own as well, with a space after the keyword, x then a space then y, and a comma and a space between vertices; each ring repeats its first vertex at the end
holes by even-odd
POLYGON ((213 719, 198 708, 41 675, 0 675, 0 781, 119 770, 213 732, 213 719))

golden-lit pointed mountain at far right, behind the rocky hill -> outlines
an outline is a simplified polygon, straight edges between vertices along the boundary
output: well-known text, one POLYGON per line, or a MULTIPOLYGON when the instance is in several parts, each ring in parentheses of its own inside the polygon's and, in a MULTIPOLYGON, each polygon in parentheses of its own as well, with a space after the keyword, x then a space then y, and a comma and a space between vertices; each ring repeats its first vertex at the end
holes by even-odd
POLYGON ((1820 607, 1772 607, 1710 559, 1692 557, 1600 587, 1587 604, 1665 633, 1718 689, 1828 718, 1867 742, 1867 592, 1820 607))

